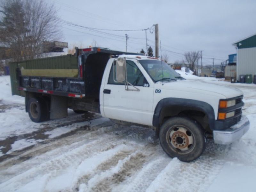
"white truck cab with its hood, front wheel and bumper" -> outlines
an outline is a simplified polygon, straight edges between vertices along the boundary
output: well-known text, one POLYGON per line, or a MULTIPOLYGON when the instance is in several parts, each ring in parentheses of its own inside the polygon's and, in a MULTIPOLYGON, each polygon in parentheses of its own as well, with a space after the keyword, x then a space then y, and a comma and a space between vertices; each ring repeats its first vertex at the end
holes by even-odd
POLYGON ((155 127, 169 156, 191 161, 204 151, 206 136, 229 144, 248 131, 242 99, 238 89, 188 81, 157 58, 121 55, 105 68, 100 112, 155 127))

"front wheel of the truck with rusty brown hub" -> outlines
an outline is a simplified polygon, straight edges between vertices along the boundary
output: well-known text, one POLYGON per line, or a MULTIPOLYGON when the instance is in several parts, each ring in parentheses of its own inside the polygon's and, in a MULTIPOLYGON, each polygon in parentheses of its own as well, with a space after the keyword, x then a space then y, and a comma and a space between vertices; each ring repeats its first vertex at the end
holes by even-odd
POLYGON ((204 132, 199 124, 186 117, 173 117, 162 125, 159 141, 171 157, 190 162, 204 151, 204 132))

